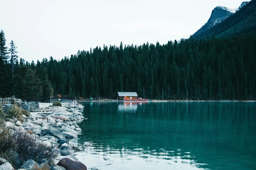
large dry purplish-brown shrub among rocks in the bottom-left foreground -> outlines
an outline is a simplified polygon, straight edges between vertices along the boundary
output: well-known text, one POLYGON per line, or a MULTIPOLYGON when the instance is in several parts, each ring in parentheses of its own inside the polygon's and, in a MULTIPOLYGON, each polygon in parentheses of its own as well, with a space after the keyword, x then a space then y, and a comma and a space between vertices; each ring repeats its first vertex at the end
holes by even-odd
POLYGON ((54 164, 54 159, 58 155, 57 149, 47 147, 39 141, 35 135, 29 135, 21 131, 11 131, 5 128, 0 129, 0 154, 12 166, 18 169, 17 162, 21 164, 32 159, 37 163, 54 164), (10 151, 19 154, 18 157, 10 156, 10 151))

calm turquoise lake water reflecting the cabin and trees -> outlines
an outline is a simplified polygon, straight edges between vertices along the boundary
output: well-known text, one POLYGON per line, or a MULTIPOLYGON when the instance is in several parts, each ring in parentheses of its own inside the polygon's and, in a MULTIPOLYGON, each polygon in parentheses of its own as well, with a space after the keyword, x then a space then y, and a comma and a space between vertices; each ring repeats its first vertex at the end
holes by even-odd
POLYGON ((87 168, 256 169, 256 102, 85 102, 87 168))

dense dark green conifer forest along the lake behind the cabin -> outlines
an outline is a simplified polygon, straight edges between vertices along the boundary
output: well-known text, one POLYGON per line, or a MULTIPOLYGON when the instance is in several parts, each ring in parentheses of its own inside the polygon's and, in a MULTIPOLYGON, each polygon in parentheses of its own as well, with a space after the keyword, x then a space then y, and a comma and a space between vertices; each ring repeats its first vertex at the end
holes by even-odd
MULTIPOLYGON (((0 95, 45 101, 116 98, 137 92, 150 99, 248 100, 256 96, 256 34, 194 39, 179 44, 103 46, 57 61, 19 61, 1 32, 0 95), (13 57, 13 59, 11 58, 13 57), (15 60, 14 60, 15 59, 15 60), (13 81, 12 81, 13 74, 13 81)), ((13 43, 14 45, 14 43, 13 43)))

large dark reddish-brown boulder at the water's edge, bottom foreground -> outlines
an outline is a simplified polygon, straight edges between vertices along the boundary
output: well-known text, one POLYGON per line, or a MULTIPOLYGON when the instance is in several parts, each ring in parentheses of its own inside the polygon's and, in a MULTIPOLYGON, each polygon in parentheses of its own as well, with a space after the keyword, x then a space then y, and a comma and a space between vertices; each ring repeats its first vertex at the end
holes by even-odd
POLYGON ((86 166, 83 163, 73 161, 69 158, 61 159, 57 165, 62 166, 66 170, 87 170, 86 166))

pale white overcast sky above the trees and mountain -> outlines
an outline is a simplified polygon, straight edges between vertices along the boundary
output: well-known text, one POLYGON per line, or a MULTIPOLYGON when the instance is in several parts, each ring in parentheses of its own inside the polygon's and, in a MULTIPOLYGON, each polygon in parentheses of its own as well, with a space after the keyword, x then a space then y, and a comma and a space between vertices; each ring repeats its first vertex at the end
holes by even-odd
MULTIPOLYGON (((96 46, 166 44, 188 38, 216 6, 242 0, 1 0, 0 30, 28 62, 61 59, 96 46)), ((8 46, 9 47, 9 46, 8 46)))

